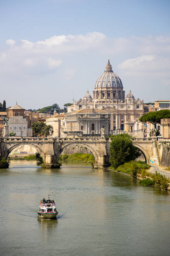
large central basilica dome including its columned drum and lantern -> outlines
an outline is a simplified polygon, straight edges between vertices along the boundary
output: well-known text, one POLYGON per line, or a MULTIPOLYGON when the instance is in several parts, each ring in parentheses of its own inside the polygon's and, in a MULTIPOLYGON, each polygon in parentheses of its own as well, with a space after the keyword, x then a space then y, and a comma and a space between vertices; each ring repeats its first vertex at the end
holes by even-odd
POLYGON ((105 72, 98 77, 93 91, 94 100, 124 100, 125 91, 120 77, 112 71, 112 66, 108 59, 105 72))

